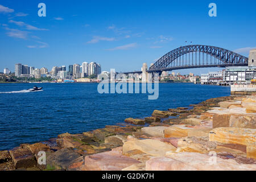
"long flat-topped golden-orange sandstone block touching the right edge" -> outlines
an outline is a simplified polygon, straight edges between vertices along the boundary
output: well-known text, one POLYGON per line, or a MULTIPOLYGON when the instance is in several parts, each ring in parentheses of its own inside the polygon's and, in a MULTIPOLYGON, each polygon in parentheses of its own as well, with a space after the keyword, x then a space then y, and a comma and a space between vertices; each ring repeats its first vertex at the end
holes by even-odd
POLYGON ((256 129, 221 127, 210 131, 209 139, 210 141, 217 141, 221 143, 254 146, 256 143, 256 129))

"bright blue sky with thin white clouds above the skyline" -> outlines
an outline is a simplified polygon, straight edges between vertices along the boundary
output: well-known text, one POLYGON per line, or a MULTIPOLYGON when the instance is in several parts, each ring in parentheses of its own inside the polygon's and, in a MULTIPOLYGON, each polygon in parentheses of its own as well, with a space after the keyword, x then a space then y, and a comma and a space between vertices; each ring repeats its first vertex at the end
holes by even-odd
MULTIPOLYGON (((256 47, 256 2, 1 0, 0 72, 96 61, 102 71, 140 70, 185 41, 248 56, 256 47), (38 4, 46 4, 46 17, 38 4), (217 17, 208 15, 216 3, 217 17)), ((186 69, 181 73, 215 71, 186 69)), ((176 71, 177 72, 177 71, 176 71)))

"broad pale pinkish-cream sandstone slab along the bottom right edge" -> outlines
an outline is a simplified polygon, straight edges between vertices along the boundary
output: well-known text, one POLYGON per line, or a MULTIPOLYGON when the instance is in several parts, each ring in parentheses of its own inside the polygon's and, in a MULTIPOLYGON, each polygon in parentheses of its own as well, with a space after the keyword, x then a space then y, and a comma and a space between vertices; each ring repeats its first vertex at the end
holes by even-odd
POLYGON ((236 160, 221 159, 192 152, 181 152, 171 156, 151 158, 146 162, 146 171, 254 171, 256 165, 239 164, 236 160))

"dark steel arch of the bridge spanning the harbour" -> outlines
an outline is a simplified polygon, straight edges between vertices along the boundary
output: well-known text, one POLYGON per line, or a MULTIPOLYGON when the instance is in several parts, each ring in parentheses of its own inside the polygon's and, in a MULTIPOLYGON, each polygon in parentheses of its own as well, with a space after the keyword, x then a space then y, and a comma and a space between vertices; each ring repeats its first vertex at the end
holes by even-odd
POLYGON ((175 69, 229 67, 248 65, 248 58, 224 48, 203 45, 179 47, 161 57, 148 69, 162 73, 175 69))

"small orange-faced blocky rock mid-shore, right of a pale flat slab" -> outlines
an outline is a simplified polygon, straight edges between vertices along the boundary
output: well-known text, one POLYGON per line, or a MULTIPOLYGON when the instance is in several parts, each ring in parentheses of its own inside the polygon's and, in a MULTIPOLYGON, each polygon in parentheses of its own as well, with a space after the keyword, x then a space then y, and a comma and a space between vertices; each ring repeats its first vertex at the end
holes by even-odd
POLYGON ((165 138, 181 138, 188 137, 188 131, 191 127, 186 127, 187 125, 172 125, 164 129, 165 138))

